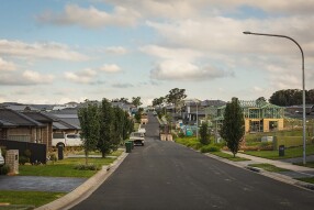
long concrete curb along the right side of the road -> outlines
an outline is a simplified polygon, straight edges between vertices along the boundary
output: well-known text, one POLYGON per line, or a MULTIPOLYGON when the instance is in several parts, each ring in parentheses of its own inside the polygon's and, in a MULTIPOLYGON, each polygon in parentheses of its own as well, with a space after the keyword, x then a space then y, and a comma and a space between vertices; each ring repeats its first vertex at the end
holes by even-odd
POLYGON ((314 190, 314 185, 313 185, 313 184, 310 184, 310 183, 296 180, 296 179, 293 179, 293 178, 291 178, 291 177, 289 177, 289 176, 281 175, 281 174, 278 174, 278 173, 267 172, 267 170, 263 170, 263 169, 258 168, 258 167, 244 166, 244 165, 237 164, 236 162, 228 161, 228 159, 226 159, 226 158, 212 155, 212 154, 210 154, 210 153, 205 153, 205 155, 209 156, 209 157, 212 157, 212 158, 214 158, 214 159, 224 162, 224 163, 226 163, 226 164, 229 164, 229 165, 233 165, 233 166, 236 166, 236 167, 240 167, 240 168, 244 168, 244 169, 247 169, 247 170, 251 170, 251 172, 254 172, 254 173, 258 173, 258 174, 260 174, 260 175, 262 175, 262 176, 267 176, 267 177, 269 177, 269 178, 272 178, 272 179, 276 179, 276 180, 279 180, 279 181, 289 184, 289 185, 293 185, 293 186, 296 186, 296 187, 301 187, 301 188, 303 188, 303 189, 311 190, 311 191, 314 190))

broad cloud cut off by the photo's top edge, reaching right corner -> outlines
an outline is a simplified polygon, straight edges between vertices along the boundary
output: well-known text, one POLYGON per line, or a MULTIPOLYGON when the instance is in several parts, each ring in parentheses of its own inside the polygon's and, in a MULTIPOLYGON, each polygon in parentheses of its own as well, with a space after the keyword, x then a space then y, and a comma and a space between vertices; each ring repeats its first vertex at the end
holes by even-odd
POLYGON ((103 0, 125 8, 132 8, 145 16, 165 19, 194 18, 200 14, 217 14, 222 11, 235 11, 242 5, 259 8, 268 13, 311 14, 314 10, 312 0, 103 0), (173 12, 176 11, 176 12, 173 12))

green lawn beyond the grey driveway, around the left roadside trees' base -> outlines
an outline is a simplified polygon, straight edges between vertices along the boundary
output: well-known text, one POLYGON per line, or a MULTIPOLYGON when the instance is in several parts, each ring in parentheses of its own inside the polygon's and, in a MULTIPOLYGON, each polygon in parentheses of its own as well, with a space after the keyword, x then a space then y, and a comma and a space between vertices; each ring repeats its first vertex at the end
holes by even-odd
MULTIPOLYGON (((101 167, 114 162, 115 158, 88 158, 88 163, 101 167)), ((85 164, 85 158, 65 158, 54 164, 19 166, 20 176, 52 176, 52 177, 91 177, 97 170, 79 170, 75 166, 85 164)))

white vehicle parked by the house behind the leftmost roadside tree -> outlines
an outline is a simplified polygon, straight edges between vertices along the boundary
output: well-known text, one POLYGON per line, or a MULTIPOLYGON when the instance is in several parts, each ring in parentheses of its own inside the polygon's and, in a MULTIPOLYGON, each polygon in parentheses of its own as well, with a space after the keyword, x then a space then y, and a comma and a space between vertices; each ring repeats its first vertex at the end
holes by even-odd
POLYGON ((53 146, 81 146, 82 141, 79 134, 76 133, 54 133, 53 134, 53 146))

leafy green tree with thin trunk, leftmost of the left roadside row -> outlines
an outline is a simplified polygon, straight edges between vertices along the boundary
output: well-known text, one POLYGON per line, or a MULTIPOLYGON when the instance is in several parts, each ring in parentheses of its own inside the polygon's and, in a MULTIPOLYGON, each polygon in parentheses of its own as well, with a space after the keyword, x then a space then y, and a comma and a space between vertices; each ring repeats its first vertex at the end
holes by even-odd
POLYGON ((82 147, 88 165, 88 154, 97 147, 100 137, 99 109, 97 104, 89 104, 78 110, 78 118, 81 128, 82 147))

